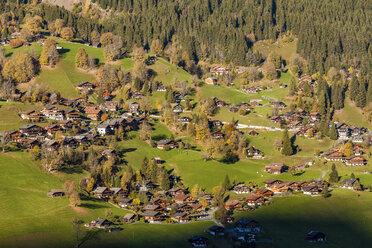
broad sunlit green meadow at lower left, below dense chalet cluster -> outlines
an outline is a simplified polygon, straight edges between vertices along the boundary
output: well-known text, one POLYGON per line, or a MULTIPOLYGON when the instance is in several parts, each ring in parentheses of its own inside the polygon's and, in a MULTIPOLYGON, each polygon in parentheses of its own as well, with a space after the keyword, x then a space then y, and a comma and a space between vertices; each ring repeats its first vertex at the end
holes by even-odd
POLYGON ((83 174, 56 174, 42 172, 28 159, 27 153, 0 154, 0 238, 25 235, 34 232, 58 232, 63 239, 61 245, 71 242, 73 217, 88 221, 104 217, 105 209, 124 215, 126 211, 114 208, 101 201, 83 201, 78 210, 68 206, 68 199, 48 198, 52 188, 61 188, 66 179, 78 178, 83 174))

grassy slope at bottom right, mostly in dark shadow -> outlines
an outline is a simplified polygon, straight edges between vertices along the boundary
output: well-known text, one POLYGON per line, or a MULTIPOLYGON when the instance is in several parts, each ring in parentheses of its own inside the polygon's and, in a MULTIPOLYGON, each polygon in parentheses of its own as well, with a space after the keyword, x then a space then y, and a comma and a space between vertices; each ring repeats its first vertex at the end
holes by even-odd
POLYGON ((371 193, 335 190, 332 197, 294 196, 274 200, 270 206, 249 213, 256 219, 276 246, 297 247, 369 247, 372 231, 371 193), (322 245, 305 241, 306 233, 319 230, 327 235, 322 245))

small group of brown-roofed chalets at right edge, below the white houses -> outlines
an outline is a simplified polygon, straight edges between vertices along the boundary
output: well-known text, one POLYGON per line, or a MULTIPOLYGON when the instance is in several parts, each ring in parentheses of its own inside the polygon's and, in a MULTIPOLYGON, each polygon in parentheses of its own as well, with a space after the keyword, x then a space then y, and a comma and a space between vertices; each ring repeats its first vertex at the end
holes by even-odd
POLYGON ((333 147, 323 156, 326 161, 343 162, 347 166, 363 166, 367 164, 366 159, 362 156, 364 152, 360 144, 352 144, 350 152, 352 153, 351 156, 345 156, 343 147, 333 147))

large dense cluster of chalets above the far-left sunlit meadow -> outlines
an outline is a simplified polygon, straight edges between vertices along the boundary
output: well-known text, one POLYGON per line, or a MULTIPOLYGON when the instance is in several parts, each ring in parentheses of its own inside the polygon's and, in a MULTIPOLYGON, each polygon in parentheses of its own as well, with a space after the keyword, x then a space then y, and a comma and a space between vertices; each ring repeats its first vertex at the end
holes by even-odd
MULTIPOLYGON (((21 116, 24 118, 27 118, 27 115, 36 116, 34 115, 35 111, 31 112, 22 113, 21 116)), ((68 119, 63 117, 66 116, 63 113, 71 112, 61 111, 55 106, 47 106, 41 113, 58 122, 44 126, 26 124, 21 126, 19 130, 5 131, 0 136, 8 136, 10 142, 14 142, 19 147, 26 149, 32 149, 35 146, 44 146, 48 150, 57 150, 60 146, 77 148, 79 145, 95 144, 99 142, 100 136, 114 134, 115 130, 120 127, 125 131, 137 130, 139 125, 144 121, 141 117, 132 117, 131 115, 123 114, 120 117, 108 119, 96 127, 91 127, 89 120, 78 117, 69 117, 68 119), (59 114, 61 114, 61 118, 56 119, 56 116, 59 114), (58 140, 53 139, 56 133, 61 134, 58 140)), ((67 116, 69 115, 67 114, 67 116)), ((93 118, 93 116, 91 117, 93 118)))

